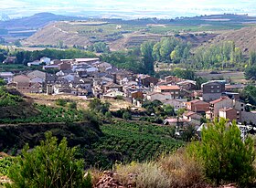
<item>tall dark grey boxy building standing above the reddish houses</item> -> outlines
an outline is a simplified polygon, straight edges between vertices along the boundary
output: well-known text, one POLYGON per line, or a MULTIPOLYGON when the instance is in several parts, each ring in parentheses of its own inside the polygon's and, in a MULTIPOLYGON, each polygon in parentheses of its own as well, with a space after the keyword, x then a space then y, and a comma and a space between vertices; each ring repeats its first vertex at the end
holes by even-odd
POLYGON ((212 80, 203 83, 201 88, 203 90, 203 100, 211 101, 219 99, 221 94, 225 92, 225 80, 212 80))

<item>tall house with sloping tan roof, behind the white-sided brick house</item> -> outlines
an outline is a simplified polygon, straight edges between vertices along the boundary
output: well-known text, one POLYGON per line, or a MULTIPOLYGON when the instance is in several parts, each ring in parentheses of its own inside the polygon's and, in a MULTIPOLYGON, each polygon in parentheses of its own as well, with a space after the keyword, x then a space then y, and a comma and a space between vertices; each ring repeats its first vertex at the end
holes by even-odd
POLYGON ((207 118, 212 120, 219 117, 220 109, 233 108, 233 100, 228 97, 221 97, 219 99, 209 102, 209 111, 206 112, 207 118))

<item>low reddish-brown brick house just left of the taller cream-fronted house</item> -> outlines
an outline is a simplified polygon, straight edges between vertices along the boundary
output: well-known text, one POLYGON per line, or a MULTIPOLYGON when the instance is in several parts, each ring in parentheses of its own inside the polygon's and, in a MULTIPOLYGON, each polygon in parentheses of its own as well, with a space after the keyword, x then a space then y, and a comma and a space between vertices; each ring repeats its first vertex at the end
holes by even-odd
POLYGON ((209 103, 200 99, 194 99, 185 103, 187 110, 205 112, 209 110, 209 103))

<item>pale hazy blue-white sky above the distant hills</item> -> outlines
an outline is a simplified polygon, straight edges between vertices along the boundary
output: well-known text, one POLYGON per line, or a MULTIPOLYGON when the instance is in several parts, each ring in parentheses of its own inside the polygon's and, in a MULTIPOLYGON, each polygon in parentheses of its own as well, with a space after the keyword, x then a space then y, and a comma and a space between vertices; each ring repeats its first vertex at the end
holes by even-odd
POLYGON ((67 16, 165 17, 211 14, 256 15, 256 0, 0 0, 11 18, 51 12, 67 16))

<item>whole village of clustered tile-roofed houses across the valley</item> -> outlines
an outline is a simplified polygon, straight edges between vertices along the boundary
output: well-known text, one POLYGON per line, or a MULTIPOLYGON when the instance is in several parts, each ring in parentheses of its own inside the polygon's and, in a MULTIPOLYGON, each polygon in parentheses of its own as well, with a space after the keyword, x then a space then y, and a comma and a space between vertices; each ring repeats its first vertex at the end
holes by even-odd
MULTIPOLYGON (((12 59, 8 57, 3 63, 12 59)), ((256 112, 249 111, 240 101, 238 91, 245 85, 230 85, 226 80, 210 80, 197 90, 196 81, 168 76, 164 79, 112 67, 100 58, 50 59, 42 57, 27 66, 43 64, 44 70, 54 69, 56 74, 40 70, 19 74, 1 72, 7 87, 22 93, 46 95, 74 95, 82 99, 125 99, 141 108, 145 100, 159 100, 174 110, 186 109, 180 117, 169 117, 165 125, 193 125, 199 128, 202 119, 225 118, 239 124, 255 124, 256 112)), ((122 107, 121 107, 122 108, 122 107)), ((153 116, 155 114, 152 114, 153 116)), ((199 128, 200 129, 200 128, 199 128)))

